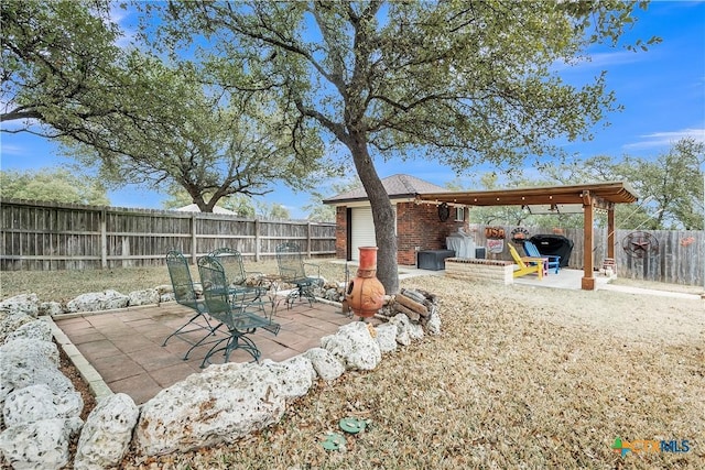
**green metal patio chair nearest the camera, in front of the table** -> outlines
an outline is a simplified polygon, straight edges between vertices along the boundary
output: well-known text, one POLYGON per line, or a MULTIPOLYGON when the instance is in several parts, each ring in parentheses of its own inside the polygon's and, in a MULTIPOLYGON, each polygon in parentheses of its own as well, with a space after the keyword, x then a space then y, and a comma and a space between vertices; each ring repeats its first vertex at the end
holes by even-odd
POLYGON ((247 351, 254 361, 259 361, 260 350, 249 335, 262 328, 276 336, 281 326, 258 314, 260 299, 247 296, 234 298, 223 264, 216 258, 206 255, 198 260, 198 273, 208 313, 228 328, 228 336, 210 348, 200 367, 209 364, 210 358, 218 352, 223 352, 225 362, 228 362, 237 349, 247 351))

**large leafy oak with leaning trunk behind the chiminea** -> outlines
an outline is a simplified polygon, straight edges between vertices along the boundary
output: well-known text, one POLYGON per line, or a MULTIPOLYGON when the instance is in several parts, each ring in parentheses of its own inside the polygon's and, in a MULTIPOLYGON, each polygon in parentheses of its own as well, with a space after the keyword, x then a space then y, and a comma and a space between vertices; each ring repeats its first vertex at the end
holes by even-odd
MULTIPOLYGON (((349 151, 369 197, 378 276, 397 292, 394 212, 375 160, 480 161, 557 152, 615 110, 605 76, 582 88, 554 65, 616 44, 634 2, 177 2, 163 44, 196 45, 228 85, 278 91, 282 119, 325 130, 349 151), (193 41, 198 36, 199 41, 193 41), (181 41, 181 43, 180 43, 181 41), (252 73, 242 80, 239 70, 252 73)), ((296 146, 296 144, 294 144, 296 146)))

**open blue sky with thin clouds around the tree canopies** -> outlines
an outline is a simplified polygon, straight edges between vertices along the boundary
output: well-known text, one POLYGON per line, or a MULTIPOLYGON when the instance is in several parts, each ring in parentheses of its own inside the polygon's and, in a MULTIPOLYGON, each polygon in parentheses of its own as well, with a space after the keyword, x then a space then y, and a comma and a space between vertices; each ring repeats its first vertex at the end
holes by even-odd
MULTIPOLYGON (((684 136, 705 141, 705 2, 655 1, 626 39, 660 36, 661 44, 648 52, 622 48, 595 51, 593 62, 564 70, 566 80, 581 81, 605 69, 608 88, 615 90, 625 110, 608 116, 607 129, 595 129, 590 142, 566 144, 570 153, 581 157, 625 154, 649 157, 666 151, 684 136)), ((30 170, 67 163, 58 156, 56 144, 22 133, 0 134, 2 170, 30 170)), ((445 186, 456 175, 441 163, 416 161, 377 162, 381 177, 405 173, 445 186)), ((459 179, 469 185, 471 176, 459 179)), ((333 196, 333 195, 330 195, 333 196)), ((159 209, 165 196, 140 187, 127 187, 109 194, 111 205, 159 209)), ((285 206, 293 218, 304 218, 302 207, 311 203, 305 193, 283 186, 263 197, 269 204, 285 206)))

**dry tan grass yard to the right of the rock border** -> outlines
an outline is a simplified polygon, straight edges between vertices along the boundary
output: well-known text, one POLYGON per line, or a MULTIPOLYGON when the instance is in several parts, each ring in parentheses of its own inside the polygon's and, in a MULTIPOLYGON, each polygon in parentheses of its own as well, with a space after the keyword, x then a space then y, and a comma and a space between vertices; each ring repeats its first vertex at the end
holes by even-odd
POLYGON ((372 372, 319 383, 284 419, 230 446, 123 468, 704 468, 704 300, 416 277, 443 334, 372 372), (344 451, 321 442, 368 420, 344 451), (611 448, 675 440, 683 452, 611 448))

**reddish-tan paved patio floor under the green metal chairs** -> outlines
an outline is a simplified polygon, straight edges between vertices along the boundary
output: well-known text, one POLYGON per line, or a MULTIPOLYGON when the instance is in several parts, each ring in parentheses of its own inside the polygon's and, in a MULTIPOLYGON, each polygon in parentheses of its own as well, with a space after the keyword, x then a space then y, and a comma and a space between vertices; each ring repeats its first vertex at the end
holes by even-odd
MULTIPOLYGON (((193 311, 188 308, 167 303, 94 315, 55 317, 54 323, 66 336, 65 340, 73 343, 85 358, 78 362, 87 365, 82 373, 88 375, 87 381, 94 385, 94 390, 107 387, 115 393, 126 393, 139 405, 162 389, 203 370, 200 363, 209 346, 194 349, 188 360, 183 360, 191 347, 186 341, 172 338, 162 347, 164 338, 191 316, 193 311), (99 376, 90 376, 90 367, 99 376)), ((251 336, 262 353, 260 360, 279 362, 319 347, 322 337, 335 334, 338 327, 357 321, 357 318, 347 317, 340 307, 334 305, 315 303, 308 306, 306 302, 299 302, 292 309, 280 307, 274 320, 281 325, 279 335, 258 330, 251 336)), ((198 334, 192 335, 200 337, 198 334)), ((218 335, 225 337, 224 332, 218 335)), ((251 359, 247 352, 238 350, 230 356, 230 362, 249 362, 251 359)), ((214 363, 223 362, 223 357, 214 356, 213 360, 214 363)))

